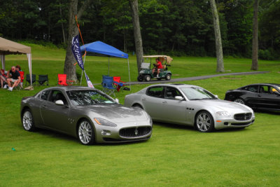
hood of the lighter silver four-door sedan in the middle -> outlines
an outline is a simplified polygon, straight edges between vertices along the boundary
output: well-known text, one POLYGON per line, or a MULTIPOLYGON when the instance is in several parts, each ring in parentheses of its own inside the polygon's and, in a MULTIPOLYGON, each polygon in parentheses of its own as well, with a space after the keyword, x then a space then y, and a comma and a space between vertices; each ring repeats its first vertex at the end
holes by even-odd
POLYGON ((200 100, 200 103, 204 106, 210 106, 216 111, 229 111, 232 113, 247 113, 253 112, 250 107, 239 104, 236 102, 228 102, 221 99, 214 99, 214 100, 200 100))

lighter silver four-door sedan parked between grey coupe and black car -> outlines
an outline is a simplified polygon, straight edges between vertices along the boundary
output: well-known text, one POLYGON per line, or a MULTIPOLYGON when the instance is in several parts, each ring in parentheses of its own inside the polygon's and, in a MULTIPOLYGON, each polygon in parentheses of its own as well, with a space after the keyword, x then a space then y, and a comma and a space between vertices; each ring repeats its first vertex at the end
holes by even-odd
POLYGON ((255 120, 253 110, 197 85, 158 84, 125 97, 125 106, 144 109, 153 120, 193 125, 200 132, 228 127, 244 128, 255 120))

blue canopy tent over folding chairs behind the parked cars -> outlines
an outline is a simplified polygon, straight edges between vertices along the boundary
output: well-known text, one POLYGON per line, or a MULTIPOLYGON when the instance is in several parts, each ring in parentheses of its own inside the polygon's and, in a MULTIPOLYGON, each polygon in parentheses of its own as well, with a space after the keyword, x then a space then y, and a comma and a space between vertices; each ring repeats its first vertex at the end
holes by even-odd
POLYGON ((94 41, 92 43, 87 43, 83 46, 80 46, 80 52, 85 51, 90 52, 92 55, 102 55, 109 57, 108 75, 110 74, 110 57, 126 58, 128 66, 128 76, 130 78, 130 62, 128 60, 127 53, 123 53, 123 51, 120 51, 117 48, 114 48, 113 46, 109 46, 108 44, 103 43, 102 41, 94 41))

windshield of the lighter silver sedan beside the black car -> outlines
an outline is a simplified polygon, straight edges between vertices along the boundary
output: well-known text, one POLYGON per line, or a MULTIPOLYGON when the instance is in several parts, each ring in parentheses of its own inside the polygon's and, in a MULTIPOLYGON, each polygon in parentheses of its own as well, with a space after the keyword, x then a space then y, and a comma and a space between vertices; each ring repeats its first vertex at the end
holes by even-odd
POLYGON ((217 99, 211 92, 198 87, 181 88, 183 93, 190 100, 202 100, 202 99, 217 99))

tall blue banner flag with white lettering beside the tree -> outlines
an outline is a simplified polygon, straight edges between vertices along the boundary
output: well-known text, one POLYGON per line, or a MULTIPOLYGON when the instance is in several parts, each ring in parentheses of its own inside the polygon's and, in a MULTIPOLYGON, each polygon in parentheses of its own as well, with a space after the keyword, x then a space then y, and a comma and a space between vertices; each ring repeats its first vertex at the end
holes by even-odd
MULTIPOLYGON (((79 64, 80 68, 83 69, 83 71, 85 72, 85 69, 83 67, 83 57, 80 53, 80 43, 79 43, 78 35, 74 36, 72 39, 71 50, 72 50, 72 53, 73 53, 76 61, 79 64)), ((87 74, 85 74, 85 78, 87 80, 87 86, 90 88, 94 88, 94 86, 93 86, 92 82, 90 81, 90 78, 87 76, 87 74)))

